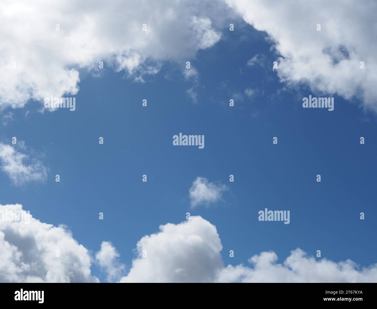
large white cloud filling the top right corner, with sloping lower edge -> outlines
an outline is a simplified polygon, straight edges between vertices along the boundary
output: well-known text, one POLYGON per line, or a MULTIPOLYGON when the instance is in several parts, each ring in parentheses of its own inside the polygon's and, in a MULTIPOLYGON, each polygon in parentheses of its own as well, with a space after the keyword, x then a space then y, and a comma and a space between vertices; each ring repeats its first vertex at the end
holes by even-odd
POLYGON ((375 1, 226 2, 247 23, 268 33, 282 56, 277 68, 281 81, 306 83, 324 95, 355 96, 377 111, 375 1), (360 69, 360 61, 365 69, 360 69))

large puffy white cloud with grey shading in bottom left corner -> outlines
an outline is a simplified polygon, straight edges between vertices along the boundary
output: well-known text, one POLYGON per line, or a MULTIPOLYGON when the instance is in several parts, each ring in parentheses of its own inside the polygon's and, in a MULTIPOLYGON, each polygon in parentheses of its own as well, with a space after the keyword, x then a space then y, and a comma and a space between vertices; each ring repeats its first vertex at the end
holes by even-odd
POLYGON ((90 274, 87 249, 64 226, 41 223, 31 215, 10 220, 21 211, 19 204, 0 205, 0 282, 98 282, 90 274))

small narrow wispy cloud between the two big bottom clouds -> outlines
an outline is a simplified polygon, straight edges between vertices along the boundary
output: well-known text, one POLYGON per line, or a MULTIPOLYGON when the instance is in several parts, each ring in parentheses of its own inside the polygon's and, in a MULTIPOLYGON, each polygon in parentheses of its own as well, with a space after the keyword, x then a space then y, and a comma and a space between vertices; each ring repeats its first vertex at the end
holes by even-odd
POLYGON ((107 281, 117 281, 121 278, 125 266, 119 261, 120 254, 109 241, 101 243, 101 250, 95 255, 96 260, 107 273, 107 281))

